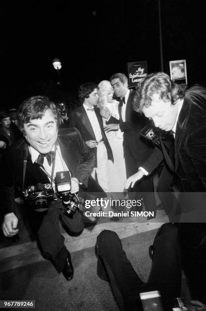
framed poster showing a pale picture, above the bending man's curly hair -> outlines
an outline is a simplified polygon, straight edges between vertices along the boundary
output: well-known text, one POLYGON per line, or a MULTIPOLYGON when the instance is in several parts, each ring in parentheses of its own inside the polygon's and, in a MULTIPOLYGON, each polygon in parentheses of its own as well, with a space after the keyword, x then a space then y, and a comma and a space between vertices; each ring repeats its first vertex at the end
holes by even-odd
POLYGON ((173 81, 187 84, 186 59, 170 61, 170 78, 173 81))

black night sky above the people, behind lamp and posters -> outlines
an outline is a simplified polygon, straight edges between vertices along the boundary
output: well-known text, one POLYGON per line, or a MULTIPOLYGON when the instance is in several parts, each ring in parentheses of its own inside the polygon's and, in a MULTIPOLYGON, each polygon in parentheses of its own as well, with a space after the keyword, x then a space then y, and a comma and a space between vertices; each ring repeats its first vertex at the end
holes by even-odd
MULTIPOLYGON (((186 59, 188 85, 205 84, 206 1, 160 2, 164 72, 170 60, 186 59)), ((71 98, 81 83, 127 74, 131 61, 146 60, 149 73, 161 70, 157 0, 7 0, 0 6, 2 109, 48 88, 58 97, 55 57, 62 62, 61 92, 71 98)))

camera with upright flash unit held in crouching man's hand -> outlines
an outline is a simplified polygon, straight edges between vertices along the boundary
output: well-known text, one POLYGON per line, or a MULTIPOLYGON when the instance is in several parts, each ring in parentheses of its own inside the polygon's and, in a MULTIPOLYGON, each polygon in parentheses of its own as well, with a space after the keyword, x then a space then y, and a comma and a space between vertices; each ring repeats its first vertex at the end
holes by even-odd
POLYGON ((71 178, 69 171, 62 171, 56 173, 56 191, 58 197, 62 198, 63 205, 65 207, 64 213, 73 217, 75 211, 79 208, 81 198, 78 194, 71 194, 71 178))

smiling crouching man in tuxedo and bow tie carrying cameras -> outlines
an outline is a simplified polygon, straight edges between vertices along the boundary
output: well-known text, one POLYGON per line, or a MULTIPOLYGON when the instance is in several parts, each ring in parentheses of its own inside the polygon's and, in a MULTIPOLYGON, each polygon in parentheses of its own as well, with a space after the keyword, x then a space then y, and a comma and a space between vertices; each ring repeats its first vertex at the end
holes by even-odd
MULTIPOLYGON (((24 138, 10 146, 1 159, 0 186, 5 209, 2 229, 8 237, 18 233, 14 186, 23 190, 37 183, 52 183, 56 191, 56 172, 69 171, 71 194, 79 190, 102 192, 90 176, 94 155, 76 129, 62 129, 58 133, 60 114, 47 97, 25 100, 18 111, 18 124, 24 138)), ((28 209, 28 214, 33 213, 32 221, 39 223, 37 234, 44 257, 51 259, 57 271, 62 271, 69 281, 73 277, 73 267, 60 234, 59 219, 77 235, 84 229, 83 215, 76 210, 73 218, 68 217, 60 198, 53 200, 47 211, 36 212, 30 206, 28 209)))

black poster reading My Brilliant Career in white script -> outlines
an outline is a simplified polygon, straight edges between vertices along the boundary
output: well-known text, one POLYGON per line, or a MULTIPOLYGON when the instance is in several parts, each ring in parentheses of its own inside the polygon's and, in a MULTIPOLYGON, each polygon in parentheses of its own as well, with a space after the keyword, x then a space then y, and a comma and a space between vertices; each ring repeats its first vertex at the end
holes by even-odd
POLYGON ((140 80, 147 75, 147 61, 128 63, 129 87, 137 86, 140 80))

